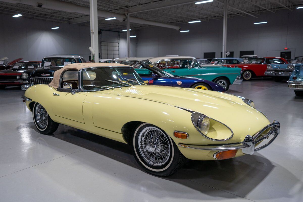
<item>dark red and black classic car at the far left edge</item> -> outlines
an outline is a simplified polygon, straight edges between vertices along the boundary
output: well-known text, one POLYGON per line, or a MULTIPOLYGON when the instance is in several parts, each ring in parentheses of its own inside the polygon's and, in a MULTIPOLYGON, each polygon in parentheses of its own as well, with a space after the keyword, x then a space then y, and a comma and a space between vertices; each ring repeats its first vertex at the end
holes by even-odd
POLYGON ((19 61, 11 65, 11 68, 0 71, 0 89, 6 86, 22 85, 22 72, 38 68, 40 61, 19 61))

